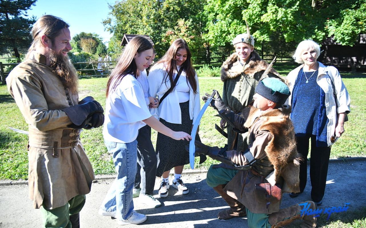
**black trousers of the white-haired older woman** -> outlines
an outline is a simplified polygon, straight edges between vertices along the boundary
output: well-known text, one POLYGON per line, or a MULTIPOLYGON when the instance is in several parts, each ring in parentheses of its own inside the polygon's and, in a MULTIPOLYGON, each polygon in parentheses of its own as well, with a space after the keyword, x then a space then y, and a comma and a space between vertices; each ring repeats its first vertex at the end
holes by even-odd
POLYGON ((330 147, 317 147, 316 136, 307 134, 306 136, 296 137, 296 146, 298 152, 303 156, 300 162, 300 192, 303 192, 307 181, 307 154, 310 147, 310 181, 311 181, 311 199, 314 202, 322 200, 325 193, 326 176, 328 175, 328 164, 330 156, 330 147))

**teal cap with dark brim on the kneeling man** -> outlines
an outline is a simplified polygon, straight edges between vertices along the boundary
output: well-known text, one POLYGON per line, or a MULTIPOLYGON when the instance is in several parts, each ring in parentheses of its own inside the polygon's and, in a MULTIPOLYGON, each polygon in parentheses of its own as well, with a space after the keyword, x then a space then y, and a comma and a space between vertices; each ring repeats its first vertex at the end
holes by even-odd
POLYGON ((259 81, 255 92, 277 104, 284 104, 290 96, 288 86, 277 78, 265 78, 259 81))

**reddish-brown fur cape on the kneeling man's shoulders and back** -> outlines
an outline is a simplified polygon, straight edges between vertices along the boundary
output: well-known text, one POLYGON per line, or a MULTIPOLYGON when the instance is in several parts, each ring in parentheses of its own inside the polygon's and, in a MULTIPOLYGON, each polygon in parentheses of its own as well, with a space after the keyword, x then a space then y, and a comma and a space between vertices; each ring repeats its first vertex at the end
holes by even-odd
POLYGON ((250 128, 255 122, 261 120, 259 130, 269 131, 273 135, 265 152, 275 170, 272 177, 266 178, 267 181, 274 185, 282 177, 285 181, 283 192, 299 192, 301 156, 296 149, 294 125, 290 120, 291 107, 283 105, 281 108, 260 115, 257 112, 260 112, 259 109, 250 108, 244 127, 250 128), (258 115, 259 117, 255 119, 258 115))

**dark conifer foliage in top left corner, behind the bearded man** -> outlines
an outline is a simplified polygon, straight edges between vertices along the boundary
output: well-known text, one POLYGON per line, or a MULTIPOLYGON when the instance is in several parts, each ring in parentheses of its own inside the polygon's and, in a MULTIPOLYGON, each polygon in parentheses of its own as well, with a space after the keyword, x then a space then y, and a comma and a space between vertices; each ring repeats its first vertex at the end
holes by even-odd
POLYGON ((7 49, 14 51, 19 60, 19 49, 27 49, 31 43, 29 32, 35 18, 27 19, 23 16, 36 0, 0 0, 0 53, 7 49))

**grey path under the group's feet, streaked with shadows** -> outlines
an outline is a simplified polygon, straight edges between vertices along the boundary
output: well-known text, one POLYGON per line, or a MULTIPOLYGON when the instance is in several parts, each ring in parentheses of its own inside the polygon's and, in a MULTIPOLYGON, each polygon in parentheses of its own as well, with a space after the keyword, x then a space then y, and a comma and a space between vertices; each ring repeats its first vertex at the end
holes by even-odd
MULTIPOLYGON (((365 207, 365 159, 337 161, 329 164, 328 181, 323 205, 343 206, 350 203, 349 209, 365 207)), ((184 174, 184 173, 183 173, 184 174)), ((224 200, 206 184, 206 173, 184 174, 183 181, 190 190, 187 195, 178 195, 176 189, 169 189, 169 196, 160 199, 163 206, 149 209, 139 204, 134 198, 135 209, 148 216, 141 225, 124 227, 170 227, 170 228, 206 228, 206 227, 247 227, 246 218, 230 220, 217 219, 217 213, 227 208, 224 200)), ((309 178, 308 178, 309 179, 309 178)), ((85 207, 81 211, 81 227, 119 227, 110 217, 98 215, 98 208, 107 193, 113 179, 103 178, 93 183, 91 193, 87 195, 85 207)), ((28 198, 28 186, 0 184, 0 227, 41 227, 40 210, 32 208, 33 203, 28 198)), ((160 179, 156 179, 154 194, 160 179)), ((310 200, 310 180, 303 194, 290 198, 284 194, 281 208, 295 203, 310 200)), ((158 196, 156 196, 158 197, 158 196)))

